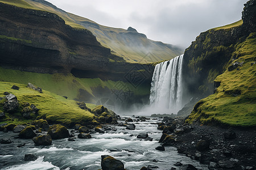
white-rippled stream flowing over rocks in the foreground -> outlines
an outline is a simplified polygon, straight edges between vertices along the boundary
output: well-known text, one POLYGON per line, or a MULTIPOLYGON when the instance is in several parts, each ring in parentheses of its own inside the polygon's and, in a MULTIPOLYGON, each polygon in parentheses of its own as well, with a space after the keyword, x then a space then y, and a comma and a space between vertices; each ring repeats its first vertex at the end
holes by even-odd
MULTIPOLYGON (((133 118, 137 120, 137 118, 133 118)), ((124 122, 124 121, 119 121, 124 122)), ((176 162, 192 164, 199 169, 207 169, 199 162, 178 154, 175 147, 166 147, 166 151, 155 150, 159 146, 161 130, 156 122, 161 119, 133 122, 135 130, 115 126, 117 131, 105 134, 92 134, 92 139, 79 139, 70 142, 65 139, 53 140, 51 146, 35 146, 31 139, 14 139, 16 133, 3 133, 0 138, 10 138, 13 143, 0 144, 1 169, 101 169, 101 155, 110 155, 121 160, 127 170, 141 169, 143 166, 156 165, 158 169, 171 169, 176 162), (147 132, 153 141, 141 141, 136 135, 147 132), (133 134, 133 137, 130 135, 133 134), (18 148, 20 143, 25 146, 18 148), (31 162, 24 161, 25 154, 38 155, 31 162), (154 160, 154 161, 153 161, 154 160)), ((113 127, 113 126, 112 126, 113 127)), ((78 133, 75 133, 77 137, 78 133)), ((175 167, 179 168, 179 167, 175 167)))

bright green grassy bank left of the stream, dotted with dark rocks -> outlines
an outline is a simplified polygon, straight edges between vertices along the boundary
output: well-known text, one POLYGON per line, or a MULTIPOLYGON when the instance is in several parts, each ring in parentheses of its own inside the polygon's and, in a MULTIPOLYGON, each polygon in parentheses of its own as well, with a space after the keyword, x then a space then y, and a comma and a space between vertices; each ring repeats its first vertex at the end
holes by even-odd
MULTIPOLYGON (((37 115, 32 115, 34 116, 33 119, 28 120, 23 118, 20 113, 23 109, 21 105, 26 102, 35 104, 36 107, 40 109, 37 118, 45 118, 49 122, 61 123, 64 125, 84 124, 85 122, 92 121, 94 118, 94 114, 80 109, 76 104, 76 101, 65 99, 62 96, 46 90, 43 91, 43 94, 40 94, 38 91, 27 88, 24 84, 0 82, 0 95, 3 96, 3 92, 5 91, 14 94, 18 98, 20 107, 16 113, 6 113, 7 118, 2 121, 1 124, 5 122, 8 124, 22 124, 24 122, 30 123, 34 120, 37 115), (11 89, 13 85, 20 87, 20 89, 11 89)), ((0 104, 0 106, 2 105, 0 104)), ((95 107, 95 105, 92 104, 88 104, 87 106, 89 108, 95 107)))

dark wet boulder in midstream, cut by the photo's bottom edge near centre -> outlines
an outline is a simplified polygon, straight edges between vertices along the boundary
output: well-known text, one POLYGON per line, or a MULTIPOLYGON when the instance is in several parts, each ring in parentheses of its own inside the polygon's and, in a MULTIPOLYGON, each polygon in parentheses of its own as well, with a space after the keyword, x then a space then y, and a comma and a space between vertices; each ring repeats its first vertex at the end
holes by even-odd
POLYGON ((109 155, 101 155, 102 170, 124 170, 125 167, 120 160, 114 159, 109 155))

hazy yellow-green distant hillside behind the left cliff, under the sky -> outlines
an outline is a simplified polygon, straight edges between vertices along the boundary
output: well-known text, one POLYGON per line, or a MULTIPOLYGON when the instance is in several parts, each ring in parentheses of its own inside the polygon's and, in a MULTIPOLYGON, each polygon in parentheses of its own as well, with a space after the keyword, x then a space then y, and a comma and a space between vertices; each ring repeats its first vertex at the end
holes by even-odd
POLYGON ((11 5, 32 8, 36 10, 49 11, 59 15, 65 23, 74 28, 89 29, 101 45, 110 48, 111 52, 127 62, 149 63, 171 59, 183 53, 183 49, 177 46, 164 44, 159 41, 147 39, 146 35, 138 33, 135 29, 125 30, 121 28, 111 28, 82 18, 77 15, 69 14, 43 0, 1 0, 0 2, 11 5))

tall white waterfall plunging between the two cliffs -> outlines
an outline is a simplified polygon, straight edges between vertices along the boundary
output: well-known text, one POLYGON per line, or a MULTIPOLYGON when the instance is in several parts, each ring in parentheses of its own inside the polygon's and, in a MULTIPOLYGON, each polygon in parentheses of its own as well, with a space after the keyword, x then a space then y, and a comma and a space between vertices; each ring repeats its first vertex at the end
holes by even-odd
POLYGON ((150 104, 159 111, 176 114, 182 107, 183 55, 155 66, 150 89, 150 104))

